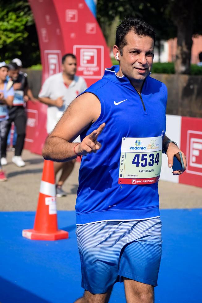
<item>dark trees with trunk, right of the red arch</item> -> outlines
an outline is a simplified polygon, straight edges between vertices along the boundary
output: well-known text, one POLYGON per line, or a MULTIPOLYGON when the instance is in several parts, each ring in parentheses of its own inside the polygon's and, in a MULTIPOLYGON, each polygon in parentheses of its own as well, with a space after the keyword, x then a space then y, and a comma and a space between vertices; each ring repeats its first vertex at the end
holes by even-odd
POLYGON ((151 24, 157 34, 157 48, 160 40, 177 37, 175 71, 185 74, 190 73, 192 36, 202 34, 201 12, 202 0, 98 0, 97 3, 97 19, 107 40, 111 24, 125 16, 140 17, 151 24))

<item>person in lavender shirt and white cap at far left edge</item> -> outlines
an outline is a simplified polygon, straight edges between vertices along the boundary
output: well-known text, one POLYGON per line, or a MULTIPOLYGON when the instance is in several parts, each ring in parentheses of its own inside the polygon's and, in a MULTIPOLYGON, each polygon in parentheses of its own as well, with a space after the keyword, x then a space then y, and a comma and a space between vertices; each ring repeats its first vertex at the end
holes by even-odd
MULTIPOLYGON (((8 125, 8 107, 12 105, 14 90, 13 87, 7 89, 7 80, 9 66, 5 62, 0 62, 0 158, 2 141, 5 139, 6 130, 8 125)), ((2 171, 0 164, 0 181, 6 181, 5 173, 2 171)))

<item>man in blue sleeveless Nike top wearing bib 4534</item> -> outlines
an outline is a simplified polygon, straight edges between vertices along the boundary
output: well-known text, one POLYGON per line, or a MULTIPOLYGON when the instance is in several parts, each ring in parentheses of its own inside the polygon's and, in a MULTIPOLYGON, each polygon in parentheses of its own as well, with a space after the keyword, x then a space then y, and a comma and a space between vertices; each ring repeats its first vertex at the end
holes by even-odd
MULTIPOLYGON (((162 149, 169 167, 180 151, 165 136, 167 88, 150 77, 154 45, 150 25, 125 19, 113 47, 120 65, 106 68, 71 103, 44 146, 45 159, 83 155, 75 209, 85 292, 77 303, 108 302, 118 281, 127 302, 153 302, 161 260, 162 149), (81 143, 71 143, 78 134, 81 143)), ((183 161, 186 167, 184 154, 183 161)))

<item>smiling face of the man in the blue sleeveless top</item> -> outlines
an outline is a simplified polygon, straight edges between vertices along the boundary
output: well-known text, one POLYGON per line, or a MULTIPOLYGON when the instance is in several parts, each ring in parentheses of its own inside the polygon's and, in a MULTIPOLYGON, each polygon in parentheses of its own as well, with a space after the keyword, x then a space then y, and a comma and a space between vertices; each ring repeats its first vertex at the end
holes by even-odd
POLYGON ((127 45, 119 55, 122 74, 131 81, 143 82, 153 63, 154 41, 149 36, 138 36, 133 31, 126 37, 127 45))

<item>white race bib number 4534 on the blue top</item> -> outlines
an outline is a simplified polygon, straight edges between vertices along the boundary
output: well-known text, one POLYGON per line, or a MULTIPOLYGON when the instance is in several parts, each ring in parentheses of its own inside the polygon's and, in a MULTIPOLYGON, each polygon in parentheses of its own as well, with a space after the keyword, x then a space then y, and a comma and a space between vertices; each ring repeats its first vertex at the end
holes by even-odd
POLYGON ((162 162, 162 136, 122 138, 119 184, 158 182, 162 162))

